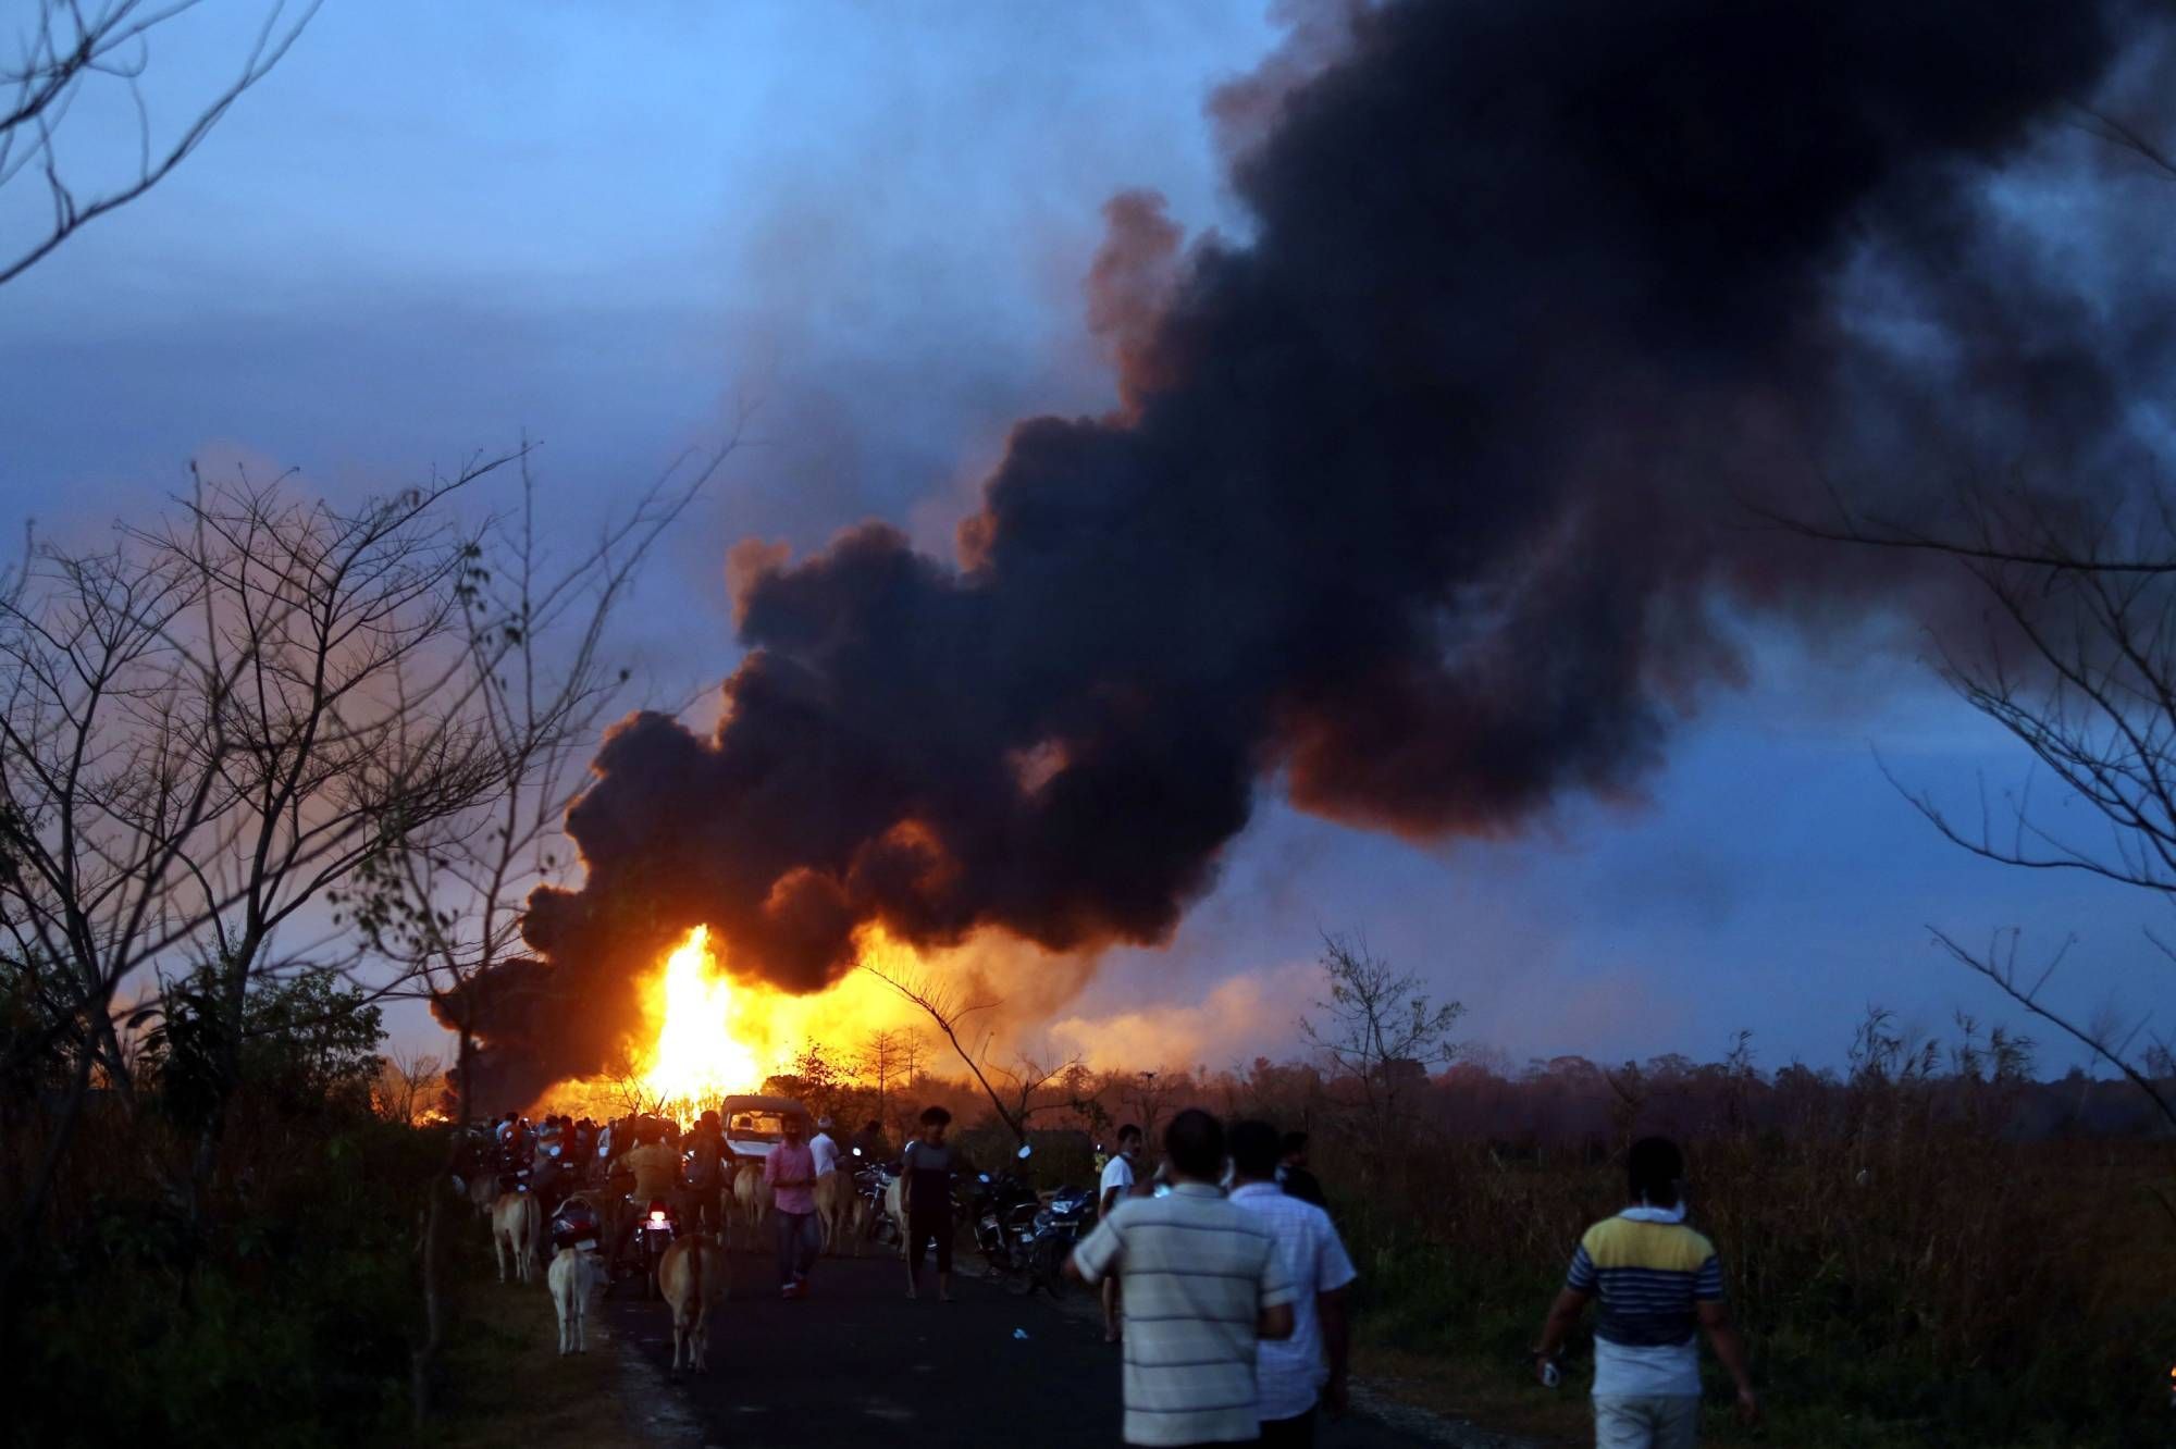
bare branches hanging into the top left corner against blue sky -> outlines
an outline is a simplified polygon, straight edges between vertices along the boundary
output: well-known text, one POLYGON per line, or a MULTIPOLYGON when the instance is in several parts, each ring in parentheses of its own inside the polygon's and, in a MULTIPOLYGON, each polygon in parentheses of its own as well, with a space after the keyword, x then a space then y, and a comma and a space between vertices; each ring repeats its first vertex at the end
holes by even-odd
MULTIPOLYGON (((0 196, 35 176, 46 189, 46 220, 0 248, 0 285, 50 257, 91 220, 126 207, 189 159, 242 94, 272 74, 322 0, 274 0, 255 28, 239 67, 200 96, 185 122, 159 135, 144 100, 152 39, 198 9, 200 0, 33 0, 35 20, 15 35, 15 57, 0 61, 0 196), (135 163, 111 183, 85 185, 61 159, 61 131, 87 96, 111 91, 135 111, 135 163)), ((104 96, 91 100, 100 104, 104 96)))

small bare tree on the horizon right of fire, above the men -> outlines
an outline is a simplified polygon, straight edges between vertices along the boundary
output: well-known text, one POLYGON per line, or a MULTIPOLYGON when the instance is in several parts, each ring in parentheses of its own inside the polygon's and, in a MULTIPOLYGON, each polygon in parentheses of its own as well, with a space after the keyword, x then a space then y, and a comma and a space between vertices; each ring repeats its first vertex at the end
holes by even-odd
POLYGON ((1299 1033, 1356 1083, 1375 1162, 1390 1166, 1408 1094, 1427 1081, 1430 1066, 1458 1057, 1451 1027, 1464 1005, 1432 1003, 1419 975, 1395 970, 1364 938, 1323 936, 1323 975, 1330 999, 1314 1003, 1323 1018, 1303 1018, 1299 1033))

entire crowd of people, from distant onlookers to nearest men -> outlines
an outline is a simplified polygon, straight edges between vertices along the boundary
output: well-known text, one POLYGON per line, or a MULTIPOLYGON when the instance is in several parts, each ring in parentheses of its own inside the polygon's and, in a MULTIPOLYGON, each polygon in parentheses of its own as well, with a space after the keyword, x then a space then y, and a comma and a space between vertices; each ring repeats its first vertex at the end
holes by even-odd
MULTIPOLYGON (((829 1116, 805 1134, 786 1114, 762 1164, 762 1194, 777 1242, 779 1295, 801 1299, 820 1251, 818 1190, 849 1166, 849 1151, 890 1155, 879 1123, 842 1149, 829 1116)), ((936 1255, 938 1301, 951 1301, 953 1181, 964 1160, 947 1140, 951 1112, 927 1107, 899 1157, 899 1227, 907 1297, 923 1292, 936 1255)), ((579 1179, 588 1164, 633 1177, 633 1201, 670 1201, 685 1227, 722 1229, 733 1149, 718 1112, 685 1134, 670 1120, 598 1127, 516 1114, 494 1125, 500 1153, 535 1153, 540 1186, 579 1179), (614 1142, 614 1136, 620 1140, 614 1142)), ((1162 1134, 1162 1164, 1142 1173, 1145 1134, 1123 1125, 1101 1168, 1097 1227, 1073 1249, 1066 1275, 1101 1290, 1103 1336, 1123 1345, 1125 1442, 1312 1445, 1316 1419, 1340 1414, 1349 1377, 1349 1292, 1358 1279, 1306 1134, 1242 1120, 1225 1129, 1195 1107, 1162 1134)), ((753 1168, 751 1168, 753 1171, 753 1168)), ((618 1255, 616 1244, 616 1255, 618 1255)), ((1715 1244, 1686 1225, 1684 1157, 1665 1138, 1628 1155, 1628 1205, 1578 1242, 1565 1286, 1534 1347, 1543 1384, 1580 1316, 1595 1308, 1597 1449, 1689 1449, 1699 1423, 1704 1329, 1736 1386, 1741 1419, 1760 1414, 1745 1351, 1723 1301, 1715 1244)))

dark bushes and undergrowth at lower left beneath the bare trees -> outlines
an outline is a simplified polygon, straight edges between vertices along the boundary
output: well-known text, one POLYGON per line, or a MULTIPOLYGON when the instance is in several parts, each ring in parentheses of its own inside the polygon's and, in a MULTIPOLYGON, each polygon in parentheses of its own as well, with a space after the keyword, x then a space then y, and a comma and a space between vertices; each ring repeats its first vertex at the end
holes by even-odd
POLYGON ((398 1438, 416 1236, 442 1131, 370 1112, 379 1012, 329 977, 170 983, 152 1110, 91 1103, 17 1310, 11 1434, 37 1445, 398 1438), (207 1192, 181 1184, 218 1118, 207 1192), (237 1427, 246 1425, 246 1427, 237 1427))

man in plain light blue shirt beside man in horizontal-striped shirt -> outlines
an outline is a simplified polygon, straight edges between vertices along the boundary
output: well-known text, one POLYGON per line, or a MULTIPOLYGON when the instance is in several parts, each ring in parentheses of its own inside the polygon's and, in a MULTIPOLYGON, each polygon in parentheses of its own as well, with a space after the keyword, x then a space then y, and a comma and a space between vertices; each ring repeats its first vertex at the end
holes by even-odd
POLYGON ((1277 1129, 1240 1123, 1232 1129, 1232 1203, 1262 1218, 1277 1236, 1277 1260, 1299 1297, 1293 1336, 1256 1349, 1262 1390, 1262 1445, 1314 1445, 1316 1405, 1345 1412, 1345 1364, 1351 1336, 1345 1290, 1358 1277, 1330 1214, 1277 1186, 1277 1129))

